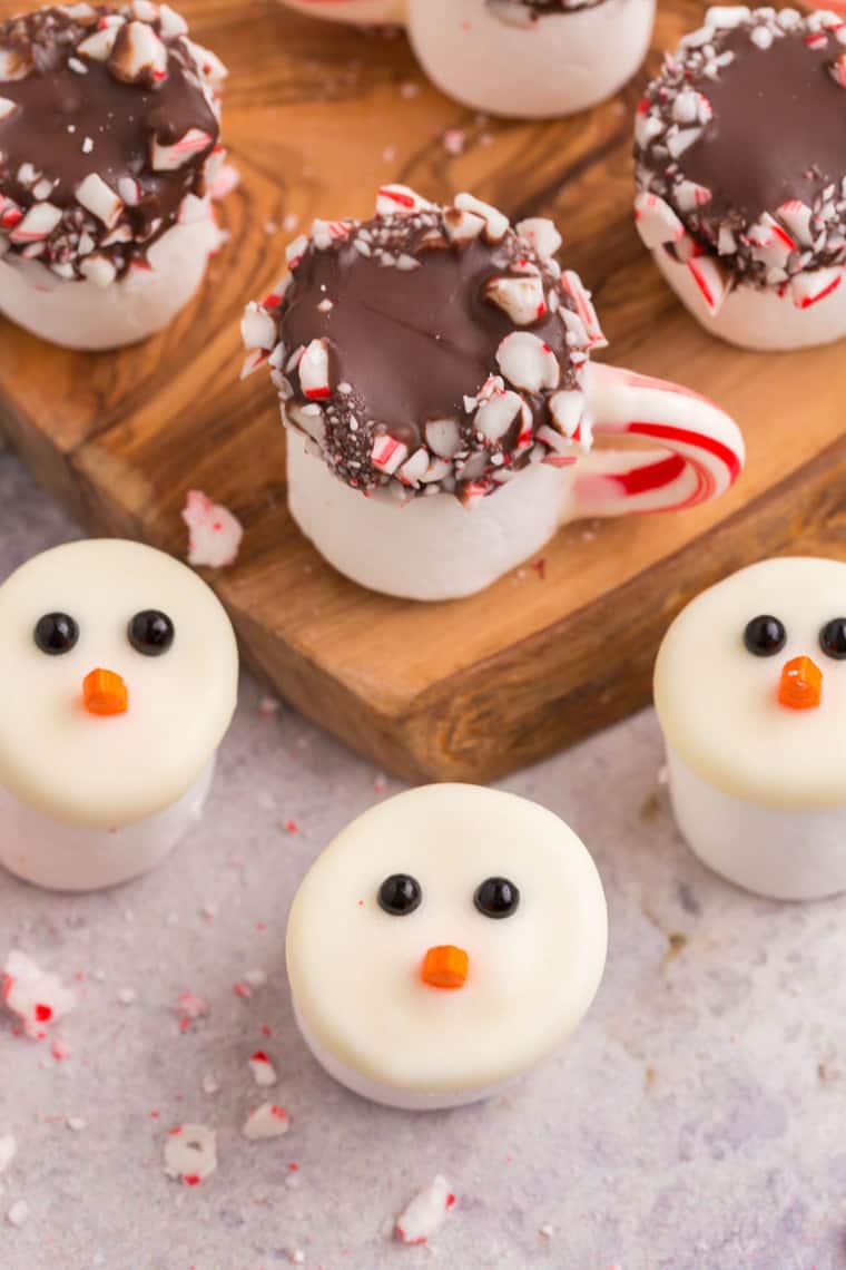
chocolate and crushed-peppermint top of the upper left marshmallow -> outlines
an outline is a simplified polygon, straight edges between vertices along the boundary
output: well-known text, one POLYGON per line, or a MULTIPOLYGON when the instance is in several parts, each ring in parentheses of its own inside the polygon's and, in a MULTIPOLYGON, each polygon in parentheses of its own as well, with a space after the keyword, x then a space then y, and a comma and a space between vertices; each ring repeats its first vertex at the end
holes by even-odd
POLYGON ((223 66, 167 5, 0 25, 0 254, 108 284, 207 190, 223 66))

